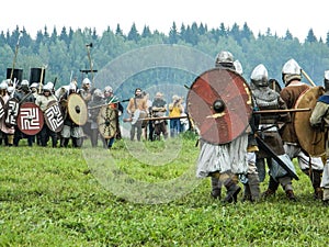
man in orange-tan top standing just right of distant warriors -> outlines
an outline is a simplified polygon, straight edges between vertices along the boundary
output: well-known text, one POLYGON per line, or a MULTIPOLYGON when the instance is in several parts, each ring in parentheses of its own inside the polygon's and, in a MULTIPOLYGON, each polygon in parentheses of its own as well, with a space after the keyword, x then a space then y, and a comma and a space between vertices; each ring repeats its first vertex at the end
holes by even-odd
POLYGON ((143 97, 143 92, 140 88, 135 89, 135 96, 129 99, 127 105, 127 113, 131 114, 134 122, 132 122, 131 128, 131 141, 134 141, 135 133, 137 132, 137 141, 140 142, 141 137, 141 124, 143 121, 139 121, 139 116, 147 115, 147 103, 145 98, 143 97))

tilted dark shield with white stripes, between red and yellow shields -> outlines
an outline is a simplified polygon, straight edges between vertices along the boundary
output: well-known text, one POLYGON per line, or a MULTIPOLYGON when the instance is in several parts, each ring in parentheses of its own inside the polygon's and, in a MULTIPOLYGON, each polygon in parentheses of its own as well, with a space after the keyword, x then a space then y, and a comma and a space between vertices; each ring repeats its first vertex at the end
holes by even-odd
POLYGON ((48 103, 44 111, 44 119, 50 131, 56 133, 61 131, 64 126, 64 115, 57 101, 48 103))

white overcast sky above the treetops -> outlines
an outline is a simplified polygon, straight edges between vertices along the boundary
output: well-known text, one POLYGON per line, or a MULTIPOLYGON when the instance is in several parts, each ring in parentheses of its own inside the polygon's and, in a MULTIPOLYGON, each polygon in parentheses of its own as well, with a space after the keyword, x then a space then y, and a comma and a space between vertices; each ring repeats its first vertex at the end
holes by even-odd
POLYGON ((58 33, 66 26, 95 27, 102 34, 107 26, 115 31, 118 23, 127 34, 135 23, 139 33, 147 25, 168 34, 173 22, 180 29, 194 21, 207 24, 208 30, 222 22, 228 27, 234 23, 242 27, 247 22, 254 35, 270 27, 272 34, 284 36, 290 30, 300 42, 309 29, 324 41, 329 32, 324 0, 5 0, 1 2, 0 31, 11 32, 19 25, 35 37, 46 25, 49 33, 54 26, 58 33))

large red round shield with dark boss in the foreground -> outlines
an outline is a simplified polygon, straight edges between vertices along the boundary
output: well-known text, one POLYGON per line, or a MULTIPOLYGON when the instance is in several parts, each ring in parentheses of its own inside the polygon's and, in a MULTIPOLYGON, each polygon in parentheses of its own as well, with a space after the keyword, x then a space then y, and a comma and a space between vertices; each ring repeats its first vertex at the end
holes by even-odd
POLYGON ((240 136, 252 114, 248 83, 229 69, 214 68, 198 76, 186 102, 201 137, 212 144, 230 143, 240 136))

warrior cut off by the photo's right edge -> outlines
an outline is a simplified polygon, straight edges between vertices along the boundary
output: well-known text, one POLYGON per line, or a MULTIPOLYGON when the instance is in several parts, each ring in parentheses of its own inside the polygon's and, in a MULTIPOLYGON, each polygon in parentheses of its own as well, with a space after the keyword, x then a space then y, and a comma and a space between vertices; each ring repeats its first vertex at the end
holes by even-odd
POLYGON ((321 180, 321 188, 324 189, 322 202, 326 206, 329 206, 329 70, 325 71, 325 94, 319 97, 317 104, 315 105, 309 122, 316 130, 325 132, 326 135, 326 164, 324 167, 324 175, 321 180), (327 125, 327 126, 326 126, 327 125))

